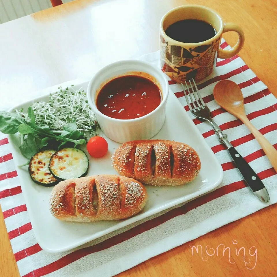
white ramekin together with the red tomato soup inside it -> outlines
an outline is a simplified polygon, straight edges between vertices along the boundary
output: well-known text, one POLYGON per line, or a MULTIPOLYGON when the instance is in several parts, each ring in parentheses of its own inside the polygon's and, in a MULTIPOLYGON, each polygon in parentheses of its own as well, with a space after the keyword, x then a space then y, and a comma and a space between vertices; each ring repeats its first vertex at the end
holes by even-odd
POLYGON ((169 85, 164 73, 139 60, 102 68, 89 82, 87 98, 100 128, 113 141, 150 139, 162 128, 169 85))

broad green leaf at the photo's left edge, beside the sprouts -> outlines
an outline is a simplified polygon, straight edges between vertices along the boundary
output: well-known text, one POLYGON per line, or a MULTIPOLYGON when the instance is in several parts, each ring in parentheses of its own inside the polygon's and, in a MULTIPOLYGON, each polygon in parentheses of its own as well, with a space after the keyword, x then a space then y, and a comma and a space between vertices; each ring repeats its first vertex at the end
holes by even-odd
POLYGON ((18 132, 18 126, 25 120, 15 113, 0 111, 0 132, 3 134, 15 134, 18 132))

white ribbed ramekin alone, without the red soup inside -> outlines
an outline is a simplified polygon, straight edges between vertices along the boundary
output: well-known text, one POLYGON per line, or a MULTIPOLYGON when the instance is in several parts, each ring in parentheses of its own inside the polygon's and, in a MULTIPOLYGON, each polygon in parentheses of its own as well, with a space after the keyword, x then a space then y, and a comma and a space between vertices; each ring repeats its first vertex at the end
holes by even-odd
POLYGON ((87 98, 101 130, 108 138, 119 143, 150 139, 160 131, 164 124, 168 93, 168 81, 162 70, 140 60, 123 60, 105 66, 94 75, 87 88, 87 98), (100 89, 108 81, 128 75, 130 72, 145 72, 154 77, 156 85, 162 92, 161 104, 151 113, 135 119, 115 119, 98 111, 96 98, 100 89))

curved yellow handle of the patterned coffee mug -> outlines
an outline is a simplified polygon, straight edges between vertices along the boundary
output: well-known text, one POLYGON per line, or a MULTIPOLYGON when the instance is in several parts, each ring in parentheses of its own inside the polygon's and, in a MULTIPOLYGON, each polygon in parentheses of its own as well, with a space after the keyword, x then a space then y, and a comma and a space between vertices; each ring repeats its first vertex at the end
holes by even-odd
POLYGON ((220 59, 227 59, 227 58, 234 57, 235 55, 237 55, 237 53, 239 53, 239 51, 242 49, 242 46, 244 44, 244 33, 241 27, 239 27, 235 23, 224 23, 223 33, 226 33, 229 31, 237 32, 239 35, 239 40, 237 41, 237 44, 231 49, 228 49, 228 50, 219 49, 218 58, 220 59))

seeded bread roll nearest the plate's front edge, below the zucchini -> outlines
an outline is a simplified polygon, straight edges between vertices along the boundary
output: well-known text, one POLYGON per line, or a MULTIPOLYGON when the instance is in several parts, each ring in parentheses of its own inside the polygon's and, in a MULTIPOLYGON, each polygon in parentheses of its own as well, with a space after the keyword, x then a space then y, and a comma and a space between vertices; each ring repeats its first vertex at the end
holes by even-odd
POLYGON ((147 192, 138 181, 97 175, 61 181, 50 196, 50 212, 60 220, 91 222, 134 216, 145 206, 147 192))

